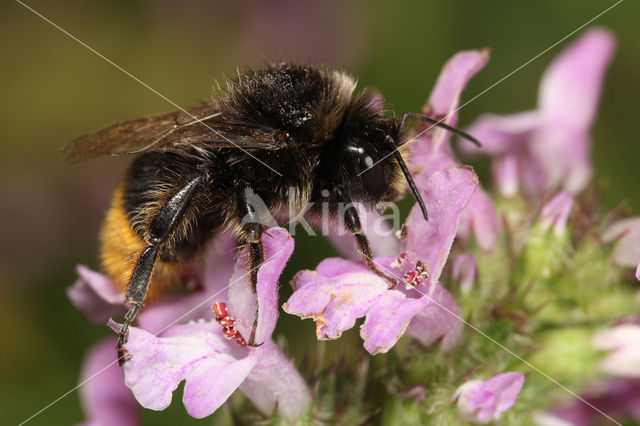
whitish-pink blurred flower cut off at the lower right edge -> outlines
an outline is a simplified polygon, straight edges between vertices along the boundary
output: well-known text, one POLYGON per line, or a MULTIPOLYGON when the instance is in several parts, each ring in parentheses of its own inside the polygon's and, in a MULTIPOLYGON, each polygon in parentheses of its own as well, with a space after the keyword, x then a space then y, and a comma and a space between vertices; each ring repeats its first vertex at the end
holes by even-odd
POLYGON ((611 351, 600 369, 616 377, 640 378, 640 325, 621 324, 593 337, 593 346, 611 351))

